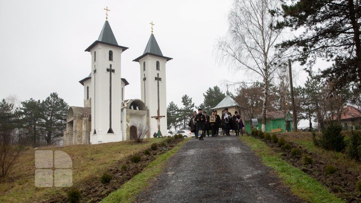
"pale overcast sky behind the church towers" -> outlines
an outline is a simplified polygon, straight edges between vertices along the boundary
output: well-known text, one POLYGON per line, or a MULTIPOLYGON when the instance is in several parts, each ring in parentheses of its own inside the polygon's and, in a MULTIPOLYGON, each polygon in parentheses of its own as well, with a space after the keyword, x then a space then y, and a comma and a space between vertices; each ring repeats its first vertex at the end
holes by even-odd
MULTIPOLYGON (((250 80, 231 72, 216 58, 217 39, 227 33, 232 0, 183 1, 1 1, 0 2, 0 98, 16 95, 20 101, 43 100, 57 92, 70 106, 83 106, 80 80, 90 73, 91 56, 84 50, 98 39, 110 9, 109 24, 122 54, 121 74, 130 85, 125 99, 140 98, 139 63, 150 36, 154 36, 166 64, 167 103, 181 105, 185 94, 196 105, 203 93, 224 80, 250 80), (195 82, 195 79, 198 81, 195 82)), ((295 85, 304 82, 301 67, 295 85)), ((234 89, 230 89, 234 91, 234 89)))

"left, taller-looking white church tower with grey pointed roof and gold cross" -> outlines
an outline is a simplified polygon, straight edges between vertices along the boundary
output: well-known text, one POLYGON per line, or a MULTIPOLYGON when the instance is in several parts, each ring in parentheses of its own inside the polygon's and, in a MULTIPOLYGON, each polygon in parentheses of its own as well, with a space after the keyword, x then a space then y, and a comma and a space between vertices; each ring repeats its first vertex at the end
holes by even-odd
POLYGON ((126 49, 118 45, 107 17, 98 40, 85 50, 91 54, 91 144, 124 139, 120 67, 126 49))

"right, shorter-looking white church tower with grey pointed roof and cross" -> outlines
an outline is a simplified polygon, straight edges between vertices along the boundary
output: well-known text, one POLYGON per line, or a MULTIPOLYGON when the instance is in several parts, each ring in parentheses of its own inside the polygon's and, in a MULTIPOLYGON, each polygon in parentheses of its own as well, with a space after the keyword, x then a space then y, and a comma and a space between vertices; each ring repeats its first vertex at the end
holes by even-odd
POLYGON ((141 99, 149 109, 150 134, 160 130, 162 135, 167 135, 165 64, 171 59, 163 56, 152 28, 143 55, 133 60, 140 65, 141 99), (160 125, 159 130, 158 125, 160 125))

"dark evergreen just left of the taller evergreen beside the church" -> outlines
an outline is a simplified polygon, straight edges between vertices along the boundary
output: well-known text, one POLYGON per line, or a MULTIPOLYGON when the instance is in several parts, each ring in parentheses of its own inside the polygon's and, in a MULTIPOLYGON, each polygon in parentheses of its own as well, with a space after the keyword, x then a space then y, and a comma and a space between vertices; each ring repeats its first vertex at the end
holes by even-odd
POLYGON ((40 100, 36 101, 31 98, 30 100, 21 102, 21 104, 22 107, 17 110, 17 113, 21 117, 23 127, 29 132, 33 147, 37 147, 39 142, 37 139, 41 134, 41 126, 44 123, 40 100))

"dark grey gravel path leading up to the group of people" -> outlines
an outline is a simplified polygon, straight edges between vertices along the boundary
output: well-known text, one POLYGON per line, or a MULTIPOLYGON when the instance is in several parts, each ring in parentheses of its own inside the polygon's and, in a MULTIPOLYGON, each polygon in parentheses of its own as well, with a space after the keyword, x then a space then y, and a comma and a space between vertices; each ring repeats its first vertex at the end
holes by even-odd
POLYGON ((136 202, 301 202, 238 137, 192 139, 136 202))

